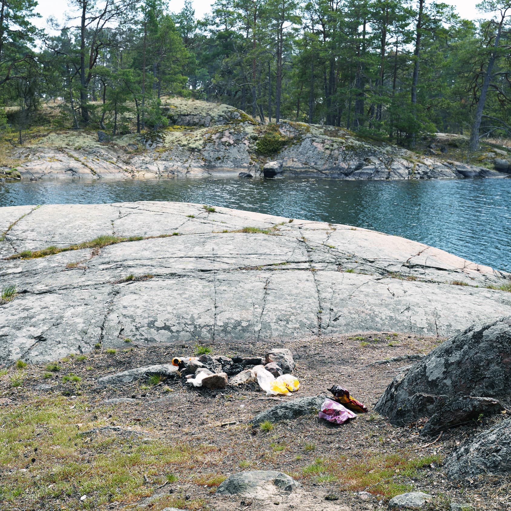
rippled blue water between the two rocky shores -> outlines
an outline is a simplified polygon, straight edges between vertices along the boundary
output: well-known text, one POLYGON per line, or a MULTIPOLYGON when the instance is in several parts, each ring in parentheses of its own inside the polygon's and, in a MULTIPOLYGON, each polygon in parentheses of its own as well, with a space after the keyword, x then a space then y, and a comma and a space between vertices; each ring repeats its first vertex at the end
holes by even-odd
POLYGON ((172 200, 376 229, 511 271, 511 179, 0 183, 0 206, 172 200))

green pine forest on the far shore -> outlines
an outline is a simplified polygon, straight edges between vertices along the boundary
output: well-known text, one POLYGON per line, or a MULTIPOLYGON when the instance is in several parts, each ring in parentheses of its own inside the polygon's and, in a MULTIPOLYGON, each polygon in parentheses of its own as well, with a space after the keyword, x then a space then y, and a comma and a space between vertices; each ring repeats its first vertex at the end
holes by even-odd
POLYGON ((158 129, 161 99, 179 95, 409 146, 433 131, 472 134, 473 150, 511 136, 509 0, 479 4, 479 21, 431 0, 217 0, 203 19, 190 1, 69 0, 48 30, 36 0, 1 2, 3 129, 48 102, 67 129, 158 129))

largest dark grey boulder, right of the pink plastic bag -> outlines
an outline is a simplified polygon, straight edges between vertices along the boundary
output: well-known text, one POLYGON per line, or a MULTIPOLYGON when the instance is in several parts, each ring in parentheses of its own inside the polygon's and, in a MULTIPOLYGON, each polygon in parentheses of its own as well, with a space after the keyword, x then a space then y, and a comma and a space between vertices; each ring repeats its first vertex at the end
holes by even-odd
POLYGON ((387 387, 375 410, 396 426, 423 417, 434 433, 511 401, 511 316, 474 324, 436 347, 387 387))

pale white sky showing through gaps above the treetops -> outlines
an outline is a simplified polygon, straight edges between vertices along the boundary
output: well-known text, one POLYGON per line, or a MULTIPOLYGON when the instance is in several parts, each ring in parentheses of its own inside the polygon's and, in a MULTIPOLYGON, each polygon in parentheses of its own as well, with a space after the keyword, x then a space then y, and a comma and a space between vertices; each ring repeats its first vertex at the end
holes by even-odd
MULTIPOLYGON (((195 8, 195 16, 201 18, 204 14, 210 11, 211 5, 214 0, 193 0, 195 8)), ((476 4, 480 0, 443 0, 446 4, 454 6, 458 14, 462 18, 475 19, 481 17, 476 9, 476 4)), ((173 12, 178 12, 182 9, 184 0, 170 0, 169 8, 173 12)), ((49 16, 55 16, 57 20, 64 19, 64 13, 68 11, 66 0, 39 0, 39 5, 36 11, 41 14, 42 18, 35 21, 35 24, 40 28, 47 26, 46 19, 49 16)))

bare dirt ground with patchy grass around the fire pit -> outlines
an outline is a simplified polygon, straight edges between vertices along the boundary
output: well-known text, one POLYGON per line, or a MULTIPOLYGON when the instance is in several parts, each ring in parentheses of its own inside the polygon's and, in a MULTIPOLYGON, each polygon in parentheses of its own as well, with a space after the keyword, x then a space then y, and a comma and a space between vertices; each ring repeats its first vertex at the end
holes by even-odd
POLYGON ((101 376, 193 354, 193 345, 127 342, 115 353, 66 357, 58 370, 12 367, 0 376, 0 508, 342 511, 386 508, 393 495, 416 490, 435 496, 431 509, 450 509, 450 502, 511 509, 511 481, 449 481, 441 467, 457 445, 501 417, 482 417, 438 438, 421 436, 420 424, 393 427, 372 411, 400 368, 413 362, 371 364, 426 354, 441 341, 365 332, 210 345, 213 355, 227 356, 289 347, 300 381, 290 398, 267 398, 255 383, 221 391, 190 388, 180 379, 96 384, 101 376), (348 388, 369 412, 341 426, 307 415, 267 431, 252 427, 257 413, 285 399, 328 394, 333 384, 348 388), (135 401, 105 403, 112 398, 135 401), (295 495, 263 501, 215 497, 218 484, 241 470, 282 471, 302 486, 295 495))

